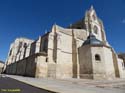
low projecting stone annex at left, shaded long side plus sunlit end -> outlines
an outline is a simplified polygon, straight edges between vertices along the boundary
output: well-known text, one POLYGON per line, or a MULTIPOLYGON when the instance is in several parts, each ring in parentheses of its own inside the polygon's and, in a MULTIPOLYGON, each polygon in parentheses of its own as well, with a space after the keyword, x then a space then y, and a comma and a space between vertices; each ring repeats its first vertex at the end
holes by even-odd
POLYGON ((42 66, 42 62, 45 62, 45 56, 35 54, 8 65, 6 73, 31 77, 44 76, 42 72, 44 72, 45 67, 42 66), (40 72, 38 73, 39 68, 42 69, 42 71, 39 70, 40 72))

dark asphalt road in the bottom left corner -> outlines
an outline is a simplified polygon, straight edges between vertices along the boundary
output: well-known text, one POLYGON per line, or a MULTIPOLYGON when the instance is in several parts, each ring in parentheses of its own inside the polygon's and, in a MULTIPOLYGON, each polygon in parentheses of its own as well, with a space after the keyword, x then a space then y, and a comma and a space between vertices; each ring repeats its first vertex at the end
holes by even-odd
POLYGON ((19 82, 9 77, 0 77, 0 93, 55 93, 19 82))

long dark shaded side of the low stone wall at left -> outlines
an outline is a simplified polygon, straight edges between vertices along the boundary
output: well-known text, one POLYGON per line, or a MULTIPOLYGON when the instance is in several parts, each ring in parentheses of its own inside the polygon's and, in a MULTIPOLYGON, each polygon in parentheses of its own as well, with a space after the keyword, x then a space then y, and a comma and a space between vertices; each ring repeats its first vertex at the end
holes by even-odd
MULTIPOLYGON (((44 55, 46 56, 46 55, 44 55)), ((42 53, 37 53, 35 55, 29 56, 23 60, 12 63, 7 66, 6 73, 13 75, 21 75, 21 76, 36 76, 36 68, 37 68, 37 60, 39 57, 43 57, 42 53)), ((43 61, 43 60, 41 60, 43 61)))

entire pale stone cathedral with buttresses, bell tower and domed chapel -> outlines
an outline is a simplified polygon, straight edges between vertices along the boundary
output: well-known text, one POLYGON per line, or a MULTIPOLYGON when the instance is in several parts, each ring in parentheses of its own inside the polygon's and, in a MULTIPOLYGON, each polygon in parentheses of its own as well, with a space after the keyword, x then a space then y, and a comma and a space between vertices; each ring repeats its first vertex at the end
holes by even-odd
POLYGON ((93 7, 80 21, 53 25, 37 40, 17 38, 10 46, 4 72, 41 78, 125 78, 125 60, 109 45, 103 22, 93 7))

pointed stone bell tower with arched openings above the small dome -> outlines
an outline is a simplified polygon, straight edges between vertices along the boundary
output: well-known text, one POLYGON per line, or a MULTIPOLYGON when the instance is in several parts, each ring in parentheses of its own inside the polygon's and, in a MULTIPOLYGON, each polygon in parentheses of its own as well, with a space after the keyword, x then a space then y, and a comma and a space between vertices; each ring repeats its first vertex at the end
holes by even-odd
POLYGON ((94 10, 93 6, 91 6, 91 8, 88 11, 86 11, 85 25, 86 30, 88 31, 88 35, 91 32, 100 41, 103 41, 104 43, 107 42, 103 23, 97 17, 96 11, 94 10))

